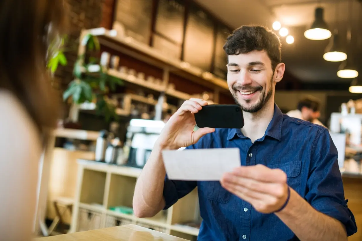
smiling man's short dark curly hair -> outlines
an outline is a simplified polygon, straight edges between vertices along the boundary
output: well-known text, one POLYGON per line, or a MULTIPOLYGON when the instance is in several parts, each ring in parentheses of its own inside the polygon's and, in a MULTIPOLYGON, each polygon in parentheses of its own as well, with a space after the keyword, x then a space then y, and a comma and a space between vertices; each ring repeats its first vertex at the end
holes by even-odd
POLYGON ((281 42, 279 37, 271 30, 262 26, 241 26, 228 36, 224 44, 227 55, 239 55, 251 51, 266 51, 273 71, 281 63, 281 42))

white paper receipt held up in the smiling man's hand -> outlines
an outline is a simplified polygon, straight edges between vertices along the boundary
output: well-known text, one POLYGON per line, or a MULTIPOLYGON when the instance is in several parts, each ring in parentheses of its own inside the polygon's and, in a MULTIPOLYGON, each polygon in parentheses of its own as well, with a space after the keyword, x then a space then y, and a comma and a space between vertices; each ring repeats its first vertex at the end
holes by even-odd
POLYGON ((240 166, 238 148, 165 150, 162 156, 171 180, 218 181, 240 166))

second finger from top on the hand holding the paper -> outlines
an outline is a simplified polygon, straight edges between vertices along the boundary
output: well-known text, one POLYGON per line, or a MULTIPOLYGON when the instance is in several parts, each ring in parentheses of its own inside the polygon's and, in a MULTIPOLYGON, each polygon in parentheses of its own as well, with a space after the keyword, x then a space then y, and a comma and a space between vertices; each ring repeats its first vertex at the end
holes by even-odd
POLYGON ((222 182, 225 183, 225 185, 239 185, 251 191, 257 191, 279 198, 283 197, 286 188, 285 184, 281 182, 262 182, 251 178, 236 176, 233 173, 225 174, 222 182))

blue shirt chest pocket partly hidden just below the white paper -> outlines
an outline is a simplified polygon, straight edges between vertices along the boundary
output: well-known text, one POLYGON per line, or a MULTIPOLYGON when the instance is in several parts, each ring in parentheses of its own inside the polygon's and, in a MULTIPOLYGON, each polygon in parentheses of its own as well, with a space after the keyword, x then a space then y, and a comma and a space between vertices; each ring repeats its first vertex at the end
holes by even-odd
POLYGON ((224 189, 219 181, 201 181, 198 187, 199 197, 210 201, 228 203, 231 193, 224 189))

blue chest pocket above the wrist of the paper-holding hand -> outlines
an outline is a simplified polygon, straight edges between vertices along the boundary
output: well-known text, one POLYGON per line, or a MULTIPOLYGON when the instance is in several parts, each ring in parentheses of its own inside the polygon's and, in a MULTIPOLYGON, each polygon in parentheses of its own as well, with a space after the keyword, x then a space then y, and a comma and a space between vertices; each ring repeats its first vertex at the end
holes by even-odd
POLYGON ((282 164, 268 165, 268 167, 271 169, 278 168, 285 172, 285 174, 287 175, 288 185, 300 194, 300 188, 302 185, 300 178, 301 165, 302 162, 300 161, 291 161, 282 164))

